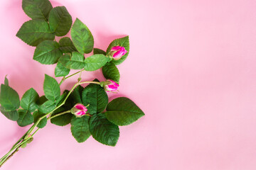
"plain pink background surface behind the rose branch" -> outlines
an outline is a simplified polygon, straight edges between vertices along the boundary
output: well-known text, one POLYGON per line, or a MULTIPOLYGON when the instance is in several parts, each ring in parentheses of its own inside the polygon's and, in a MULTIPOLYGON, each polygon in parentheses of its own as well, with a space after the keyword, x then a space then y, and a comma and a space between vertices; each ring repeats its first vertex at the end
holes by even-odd
MULTIPOLYGON (((87 24, 95 47, 129 35, 116 96, 132 98, 146 116, 120 128, 116 147, 92 137, 78 144, 70 125, 48 123, 3 169, 256 169, 255 0, 52 2, 87 24)), ((0 83, 8 74, 20 96, 31 87, 42 95, 55 67, 33 61, 34 47, 16 38, 28 21, 21 0, 1 0, 0 21, 0 83)), ((95 77, 104 80, 100 71, 83 74, 95 77)), ((0 125, 2 156, 28 127, 4 115, 0 125)))

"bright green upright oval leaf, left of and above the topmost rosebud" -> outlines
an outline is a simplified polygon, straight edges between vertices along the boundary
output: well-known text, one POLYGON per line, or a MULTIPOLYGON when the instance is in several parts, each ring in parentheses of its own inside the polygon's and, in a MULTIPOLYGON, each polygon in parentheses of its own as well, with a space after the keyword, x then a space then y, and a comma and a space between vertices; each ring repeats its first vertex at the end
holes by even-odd
POLYGON ((92 52, 94 45, 92 33, 78 18, 71 28, 71 38, 78 52, 81 54, 92 52))

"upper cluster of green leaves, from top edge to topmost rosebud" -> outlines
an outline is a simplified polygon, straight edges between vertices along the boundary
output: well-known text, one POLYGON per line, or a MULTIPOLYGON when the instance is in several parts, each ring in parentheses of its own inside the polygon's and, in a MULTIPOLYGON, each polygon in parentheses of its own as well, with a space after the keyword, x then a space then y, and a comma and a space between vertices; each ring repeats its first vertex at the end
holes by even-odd
POLYGON ((89 28, 72 17, 65 6, 53 8, 48 0, 23 0, 23 11, 32 19, 23 23, 16 36, 28 45, 35 46, 33 60, 41 64, 55 64, 55 77, 65 77, 70 69, 95 71, 102 68, 107 79, 119 81, 115 65, 121 64, 129 53, 129 38, 119 38, 111 42, 107 52, 94 48, 94 38, 89 28), (73 23, 73 26, 72 26, 73 23), (70 31, 71 38, 63 37, 57 42, 55 36, 62 37, 70 31), (120 60, 107 57, 111 48, 120 45, 128 51, 120 60), (84 54, 93 55, 85 58, 84 54), (113 74, 112 74, 113 73, 113 74), (113 75, 113 76, 112 76, 113 75))

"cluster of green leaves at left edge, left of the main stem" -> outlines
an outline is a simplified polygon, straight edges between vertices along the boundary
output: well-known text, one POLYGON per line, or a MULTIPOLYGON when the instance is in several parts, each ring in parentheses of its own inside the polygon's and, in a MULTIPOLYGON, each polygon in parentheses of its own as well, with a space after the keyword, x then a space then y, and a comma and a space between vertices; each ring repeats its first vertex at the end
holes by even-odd
MULTIPOLYGON (((28 89, 20 100, 18 93, 9 86, 9 81, 5 78, 4 84, 1 84, 0 111, 6 118, 17 121, 21 127, 36 123, 43 115, 53 111, 65 96, 60 96, 58 82, 48 75, 43 83, 43 91, 45 96, 39 97, 35 89, 28 89)), ((43 128, 46 123, 45 117, 39 121, 37 127, 43 128)))

